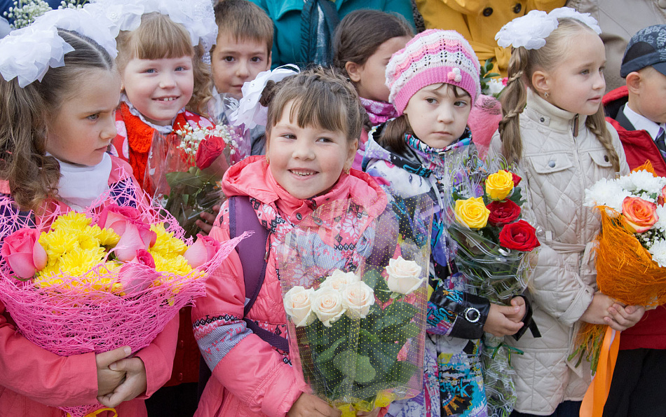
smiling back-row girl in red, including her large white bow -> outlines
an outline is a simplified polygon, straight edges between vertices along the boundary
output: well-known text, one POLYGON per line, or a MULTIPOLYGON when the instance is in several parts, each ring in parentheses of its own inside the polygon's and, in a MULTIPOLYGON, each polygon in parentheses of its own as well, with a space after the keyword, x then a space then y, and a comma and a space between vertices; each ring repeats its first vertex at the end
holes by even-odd
MULTIPOLYGON (((212 81, 202 57, 217 38, 217 25, 208 0, 188 4, 192 11, 203 13, 186 14, 181 4, 169 0, 142 6, 112 0, 107 7, 118 3, 122 7, 118 26, 126 29, 139 19, 140 25, 122 30, 116 38, 123 95, 116 111, 118 135, 112 144, 118 156, 130 163, 144 190, 151 193, 146 166, 154 135, 168 135, 186 124, 213 126, 205 117, 212 81)), ((172 376, 147 401, 151 415, 191 416, 196 409, 200 356, 189 323, 190 310, 180 312, 172 376)))

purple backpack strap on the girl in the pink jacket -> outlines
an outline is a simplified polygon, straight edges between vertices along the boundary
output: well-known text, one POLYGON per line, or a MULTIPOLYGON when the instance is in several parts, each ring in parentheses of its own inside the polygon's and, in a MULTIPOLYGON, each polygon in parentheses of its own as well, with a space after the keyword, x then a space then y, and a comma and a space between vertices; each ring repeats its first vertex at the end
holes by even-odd
POLYGON ((250 198, 234 196, 229 198, 229 237, 233 239, 244 231, 254 231, 254 233, 236 246, 240 264, 243 266, 243 280, 245 281, 243 320, 245 320, 247 328, 252 330, 252 333, 259 336, 261 340, 288 353, 289 343, 287 339, 262 329, 257 323, 245 317, 254 306, 254 301, 257 301, 261 286, 264 285, 264 278, 266 278, 266 266, 269 259, 266 243, 269 239, 269 231, 259 223, 254 207, 250 203, 250 198), (261 262, 259 259, 264 261, 261 262))

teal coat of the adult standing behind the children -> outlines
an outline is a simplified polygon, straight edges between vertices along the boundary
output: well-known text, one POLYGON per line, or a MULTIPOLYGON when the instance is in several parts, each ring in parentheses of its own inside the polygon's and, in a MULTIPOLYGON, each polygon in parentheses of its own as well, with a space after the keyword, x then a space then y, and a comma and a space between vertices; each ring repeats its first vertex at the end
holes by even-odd
MULTIPOLYGON (((275 25, 273 68, 283 64, 307 64, 310 60, 301 51, 301 11, 304 0, 250 1, 264 9, 275 25)), ((334 6, 339 19, 360 8, 399 13, 407 19, 416 32, 412 3, 409 0, 336 0, 334 6)), ((333 48, 332 44, 329 48, 333 48)))

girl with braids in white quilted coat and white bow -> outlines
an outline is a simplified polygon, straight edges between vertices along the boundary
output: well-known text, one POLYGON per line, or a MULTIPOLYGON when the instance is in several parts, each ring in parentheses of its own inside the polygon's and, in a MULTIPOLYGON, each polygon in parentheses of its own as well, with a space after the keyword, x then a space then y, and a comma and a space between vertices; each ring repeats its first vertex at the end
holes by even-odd
POLYGON ((526 210, 541 229, 529 299, 543 337, 507 340, 517 375, 515 416, 578 416, 590 364, 572 352, 580 322, 621 331, 644 313, 597 292, 592 242, 601 230, 585 189, 628 173, 618 134, 604 120, 604 43, 597 21, 571 8, 532 11, 498 32, 513 46, 502 95, 503 120, 490 155, 516 162, 526 179, 526 210), (593 257, 592 257, 593 258, 593 257))

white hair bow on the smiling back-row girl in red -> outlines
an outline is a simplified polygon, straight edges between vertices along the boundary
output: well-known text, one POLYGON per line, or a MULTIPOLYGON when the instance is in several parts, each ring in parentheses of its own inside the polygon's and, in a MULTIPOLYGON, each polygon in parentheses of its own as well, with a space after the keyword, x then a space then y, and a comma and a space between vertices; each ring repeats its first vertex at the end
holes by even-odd
POLYGON ((141 16, 158 12, 185 27, 192 46, 203 43, 208 52, 217 40, 215 12, 210 0, 93 0, 99 10, 114 21, 115 34, 121 30, 134 30, 141 24, 141 16))

